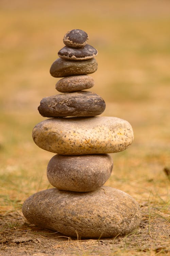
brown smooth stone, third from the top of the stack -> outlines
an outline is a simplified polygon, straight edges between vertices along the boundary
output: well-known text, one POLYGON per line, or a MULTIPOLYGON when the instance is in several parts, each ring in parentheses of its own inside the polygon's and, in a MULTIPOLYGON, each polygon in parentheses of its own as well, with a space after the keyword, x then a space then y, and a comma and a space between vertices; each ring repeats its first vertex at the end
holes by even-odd
POLYGON ((51 68, 50 74, 53 77, 65 77, 70 75, 87 75, 94 73, 98 68, 96 59, 89 60, 66 60, 56 59, 51 68))

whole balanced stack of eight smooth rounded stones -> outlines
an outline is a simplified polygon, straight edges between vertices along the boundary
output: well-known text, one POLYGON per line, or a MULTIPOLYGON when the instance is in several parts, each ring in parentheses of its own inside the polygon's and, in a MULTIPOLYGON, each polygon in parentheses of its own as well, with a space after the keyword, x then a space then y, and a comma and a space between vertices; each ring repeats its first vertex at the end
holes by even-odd
POLYGON ((114 237, 131 232, 141 220, 137 202, 125 192, 103 186, 111 175, 108 153, 125 150, 133 141, 131 125, 117 117, 99 117, 104 100, 84 91, 94 86, 97 50, 80 29, 64 36, 64 46, 50 73, 64 77, 56 89, 64 94, 44 98, 38 107, 52 117, 33 129, 34 142, 56 153, 47 176, 55 187, 30 196, 23 204, 31 223, 84 238, 114 237))

